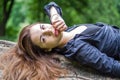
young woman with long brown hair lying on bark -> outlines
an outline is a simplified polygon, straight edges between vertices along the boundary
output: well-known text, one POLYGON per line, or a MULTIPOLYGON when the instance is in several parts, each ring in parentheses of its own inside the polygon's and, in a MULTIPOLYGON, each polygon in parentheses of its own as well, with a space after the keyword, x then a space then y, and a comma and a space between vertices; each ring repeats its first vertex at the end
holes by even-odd
MULTIPOLYGON (((99 72, 120 77, 120 29, 103 23, 81 24, 67 28, 61 9, 54 2, 45 6, 51 24, 29 25, 20 33, 17 45, 7 58, 5 80, 53 80, 63 74, 51 58, 65 55, 99 72)), ((1 60, 2 60, 1 58, 1 60)))

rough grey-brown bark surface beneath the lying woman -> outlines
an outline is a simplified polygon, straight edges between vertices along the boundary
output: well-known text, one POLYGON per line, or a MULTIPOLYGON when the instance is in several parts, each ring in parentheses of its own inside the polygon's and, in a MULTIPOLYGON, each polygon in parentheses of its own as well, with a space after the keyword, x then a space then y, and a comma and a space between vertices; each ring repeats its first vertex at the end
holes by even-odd
MULTIPOLYGON (((14 46, 16 43, 0 40, 0 54, 3 54, 9 48, 14 46)), ((87 66, 78 65, 74 62, 67 60, 64 56, 57 55, 60 59, 61 65, 69 70, 69 74, 62 76, 59 80, 119 80, 117 78, 111 78, 107 75, 102 75, 87 66)), ((2 75, 2 70, 0 70, 0 77, 2 75)))

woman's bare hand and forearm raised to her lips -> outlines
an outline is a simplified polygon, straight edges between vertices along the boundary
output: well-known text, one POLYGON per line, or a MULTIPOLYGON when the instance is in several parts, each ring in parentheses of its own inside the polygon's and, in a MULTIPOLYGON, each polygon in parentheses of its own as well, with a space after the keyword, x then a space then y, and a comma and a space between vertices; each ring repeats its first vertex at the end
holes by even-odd
POLYGON ((54 7, 51 8, 50 13, 50 20, 53 27, 60 32, 65 31, 67 29, 67 25, 65 24, 63 18, 57 13, 54 7))

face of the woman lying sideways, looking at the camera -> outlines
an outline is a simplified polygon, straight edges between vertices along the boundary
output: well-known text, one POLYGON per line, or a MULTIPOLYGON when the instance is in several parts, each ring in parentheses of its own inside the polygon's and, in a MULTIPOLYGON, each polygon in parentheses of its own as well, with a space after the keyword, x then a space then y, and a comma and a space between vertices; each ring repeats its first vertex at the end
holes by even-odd
POLYGON ((62 33, 59 33, 51 24, 38 23, 31 27, 32 42, 40 48, 49 50, 58 46, 62 33))

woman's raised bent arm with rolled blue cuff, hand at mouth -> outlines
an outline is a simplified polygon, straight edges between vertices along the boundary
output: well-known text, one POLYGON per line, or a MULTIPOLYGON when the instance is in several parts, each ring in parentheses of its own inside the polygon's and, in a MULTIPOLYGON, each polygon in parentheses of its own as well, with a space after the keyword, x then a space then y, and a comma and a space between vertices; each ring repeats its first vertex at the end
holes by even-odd
POLYGON ((66 30, 67 25, 62 18, 62 9, 55 2, 48 3, 44 6, 44 9, 50 18, 51 24, 56 30, 60 32, 66 30))

